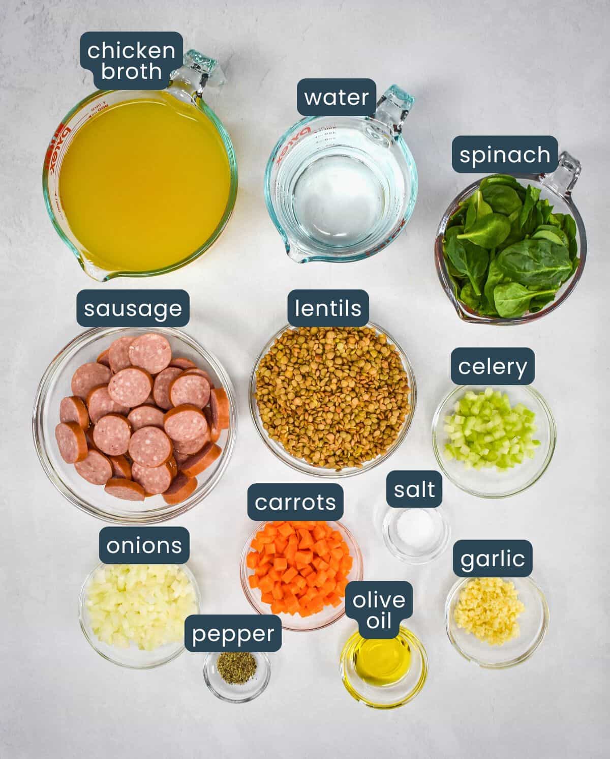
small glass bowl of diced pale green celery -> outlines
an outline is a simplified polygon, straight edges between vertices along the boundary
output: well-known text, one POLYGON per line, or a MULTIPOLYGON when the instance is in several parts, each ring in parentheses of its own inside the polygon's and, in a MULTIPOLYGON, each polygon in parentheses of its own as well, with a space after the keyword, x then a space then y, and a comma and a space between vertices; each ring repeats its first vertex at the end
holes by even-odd
POLYGON ((458 386, 432 420, 445 476, 480 498, 514 496, 546 471, 557 430, 549 405, 526 385, 458 386))

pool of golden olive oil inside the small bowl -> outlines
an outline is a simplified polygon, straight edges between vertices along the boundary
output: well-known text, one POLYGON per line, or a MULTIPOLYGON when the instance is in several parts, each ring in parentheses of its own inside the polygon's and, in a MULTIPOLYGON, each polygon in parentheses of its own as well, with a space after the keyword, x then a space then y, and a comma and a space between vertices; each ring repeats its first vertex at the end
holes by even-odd
POLYGON ((409 671, 411 650, 404 638, 366 640, 360 638, 354 650, 354 666, 369 685, 393 685, 409 671))

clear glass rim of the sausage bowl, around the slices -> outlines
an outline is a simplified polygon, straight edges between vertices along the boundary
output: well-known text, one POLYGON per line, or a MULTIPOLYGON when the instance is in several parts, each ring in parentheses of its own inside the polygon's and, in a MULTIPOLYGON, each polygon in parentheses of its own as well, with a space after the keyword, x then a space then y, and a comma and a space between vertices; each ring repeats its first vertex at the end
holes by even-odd
POLYGON ((187 333, 183 332, 181 329, 176 329, 175 327, 159 327, 154 329, 149 329, 147 327, 93 327, 92 329, 86 329, 84 332, 80 332, 80 334, 71 339, 67 345, 64 345, 64 347, 55 354, 55 357, 52 358, 52 361, 49 362, 46 370, 42 373, 34 398, 32 435, 36 455, 38 456, 46 476, 51 481, 53 487, 55 487, 55 490, 58 490, 58 493, 61 493, 61 495, 64 496, 64 499, 76 506, 77 509, 111 524, 156 524, 158 522, 174 519, 187 511, 190 511, 190 509, 193 509, 194 506, 198 505, 204 498, 209 496, 209 493, 211 493, 214 487, 219 483, 222 475, 225 474, 225 470, 228 467, 231 455, 233 454, 235 439, 237 436, 237 400, 233 383, 231 383, 231 378, 228 376, 225 367, 222 366, 221 362, 214 354, 206 348, 203 348, 203 345, 200 345, 200 342, 192 338, 190 335, 187 335, 187 333), (46 402, 49 387, 51 386, 53 379, 55 379, 58 373, 64 368, 62 364, 68 354, 74 353, 74 355, 76 355, 77 351, 86 348, 87 345, 90 345, 91 342, 98 338, 115 334, 118 335, 120 332, 143 333, 151 331, 161 332, 162 334, 185 343, 192 351, 204 358, 204 360, 212 367, 212 370, 219 376, 219 379, 222 380, 222 387, 225 388, 229 400, 229 418, 232 419, 232 422, 227 431, 227 441, 222 449, 222 454, 219 457, 219 465, 215 468, 212 477, 210 477, 206 483, 202 484, 201 492, 195 499, 193 499, 192 503, 188 503, 187 499, 174 506, 168 506, 167 509, 159 506, 156 509, 149 509, 143 512, 110 515, 108 512, 105 512, 104 509, 98 508, 93 503, 80 498, 80 496, 76 496, 64 484, 63 478, 58 474, 58 471, 55 470, 55 467, 52 465, 52 461, 49 458, 46 442, 44 441, 42 414, 40 412, 43 403, 46 402))

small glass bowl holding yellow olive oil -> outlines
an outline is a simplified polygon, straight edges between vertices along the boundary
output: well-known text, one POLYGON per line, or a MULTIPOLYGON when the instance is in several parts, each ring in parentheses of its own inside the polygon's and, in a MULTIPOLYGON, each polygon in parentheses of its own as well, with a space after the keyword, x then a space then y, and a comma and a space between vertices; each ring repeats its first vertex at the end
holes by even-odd
POLYGON ((428 676, 426 649, 402 627, 396 638, 366 639, 354 632, 341 651, 341 679, 347 692, 366 706, 394 709, 415 698, 428 676))

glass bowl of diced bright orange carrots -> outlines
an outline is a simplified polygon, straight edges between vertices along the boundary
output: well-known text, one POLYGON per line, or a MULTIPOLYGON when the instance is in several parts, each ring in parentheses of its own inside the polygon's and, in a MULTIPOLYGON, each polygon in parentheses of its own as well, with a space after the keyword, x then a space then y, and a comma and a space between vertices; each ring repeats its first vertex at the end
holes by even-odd
POLYGON ((241 553, 241 587, 259 614, 286 630, 319 630, 345 613, 345 586, 363 577, 362 554, 339 522, 261 522, 241 553))

